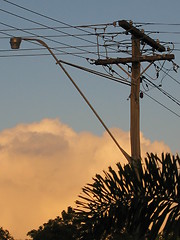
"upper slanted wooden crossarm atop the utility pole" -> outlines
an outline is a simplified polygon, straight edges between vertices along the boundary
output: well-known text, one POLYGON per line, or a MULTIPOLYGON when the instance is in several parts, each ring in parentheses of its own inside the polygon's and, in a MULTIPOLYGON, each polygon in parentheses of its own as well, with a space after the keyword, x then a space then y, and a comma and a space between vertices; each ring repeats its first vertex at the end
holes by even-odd
POLYGON ((134 37, 140 39, 141 41, 147 43, 152 48, 158 50, 159 52, 165 52, 166 49, 163 45, 159 44, 158 42, 154 41, 152 38, 144 34, 142 31, 134 27, 131 23, 127 22, 126 20, 120 20, 118 22, 119 26, 124 28, 127 32, 130 32, 134 37))

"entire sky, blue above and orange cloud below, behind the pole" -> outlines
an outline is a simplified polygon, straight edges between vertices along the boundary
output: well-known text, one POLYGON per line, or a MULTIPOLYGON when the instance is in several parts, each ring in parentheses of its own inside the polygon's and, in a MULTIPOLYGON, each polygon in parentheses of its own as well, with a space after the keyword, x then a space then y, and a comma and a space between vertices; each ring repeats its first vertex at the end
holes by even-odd
MULTIPOLYGON (((0 226, 16 239, 25 239, 28 231, 73 206, 81 188, 96 173, 110 165, 115 167, 119 161, 127 162, 46 49, 22 42, 21 50, 13 51, 10 37, 39 37, 53 48, 58 59, 110 76, 107 67, 94 66, 87 58, 129 57, 117 52, 129 51, 131 44, 131 36, 117 23, 132 20, 151 38, 174 49, 168 53, 174 54, 174 63, 180 65, 179 7, 179 0, 0 0, 0 226)), ((142 157, 146 152, 179 152, 177 65, 157 62, 144 75, 147 81, 141 84, 144 97, 140 99, 142 157), (154 84, 161 87, 157 89, 154 84)), ((146 66, 143 64, 141 70, 146 66)), ((130 86, 64 67, 130 154, 130 86)), ((121 75, 120 79, 130 81, 120 68, 112 67, 113 77, 121 75)), ((130 69, 126 70, 130 74, 130 69)))

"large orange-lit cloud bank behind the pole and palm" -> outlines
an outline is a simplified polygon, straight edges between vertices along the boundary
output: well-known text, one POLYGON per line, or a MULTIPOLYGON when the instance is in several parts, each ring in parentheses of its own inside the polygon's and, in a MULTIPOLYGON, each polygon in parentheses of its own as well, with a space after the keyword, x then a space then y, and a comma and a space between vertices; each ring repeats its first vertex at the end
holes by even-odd
MULTIPOLYGON (((129 133, 111 129, 130 153, 129 133)), ((163 142, 141 134, 142 155, 169 152, 163 142)), ((96 173, 127 163, 105 132, 75 132, 58 119, 20 124, 0 132, 0 223, 16 238, 25 238, 50 218, 74 205, 81 188, 96 173)))

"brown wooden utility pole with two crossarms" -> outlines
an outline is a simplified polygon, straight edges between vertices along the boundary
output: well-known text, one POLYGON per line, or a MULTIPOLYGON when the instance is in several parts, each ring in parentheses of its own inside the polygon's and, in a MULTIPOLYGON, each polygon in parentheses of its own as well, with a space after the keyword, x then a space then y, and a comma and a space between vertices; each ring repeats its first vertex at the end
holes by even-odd
MULTIPOLYGON (((124 28, 127 33, 132 35, 132 57, 131 58, 108 58, 98 59, 95 61, 96 65, 108 65, 108 64, 126 64, 132 63, 132 75, 131 75, 131 122, 130 122, 130 140, 131 140, 131 157, 132 160, 141 159, 140 151, 140 106, 139 106, 139 93, 140 93, 140 77, 151 66, 154 61, 159 60, 172 60, 173 54, 161 54, 152 56, 142 56, 140 50, 140 42, 144 42, 159 52, 166 51, 165 47, 154 41, 152 38, 144 34, 125 20, 118 22, 119 26, 124 28), (141 62, 149 62, 149 65, 141 73, 141 62)), ((121 69, 123 69, 121 67, 121 69)), ((126 72, 124 70, 124 72, 126 72)), ((134 161, 133 161, 134 162, 134 161)))

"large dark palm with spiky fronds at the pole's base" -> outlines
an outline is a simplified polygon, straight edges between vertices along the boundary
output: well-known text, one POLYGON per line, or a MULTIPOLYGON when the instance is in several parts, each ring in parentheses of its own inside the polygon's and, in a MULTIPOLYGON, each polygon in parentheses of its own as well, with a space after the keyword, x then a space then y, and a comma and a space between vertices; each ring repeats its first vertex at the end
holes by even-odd
POLYGON ((83 188, 76 202, 81 239, 180 237, 179 156, 148 154, 137 165, 138 176, 133 165, 118 163, 117 172, 109 167, 83 188))

